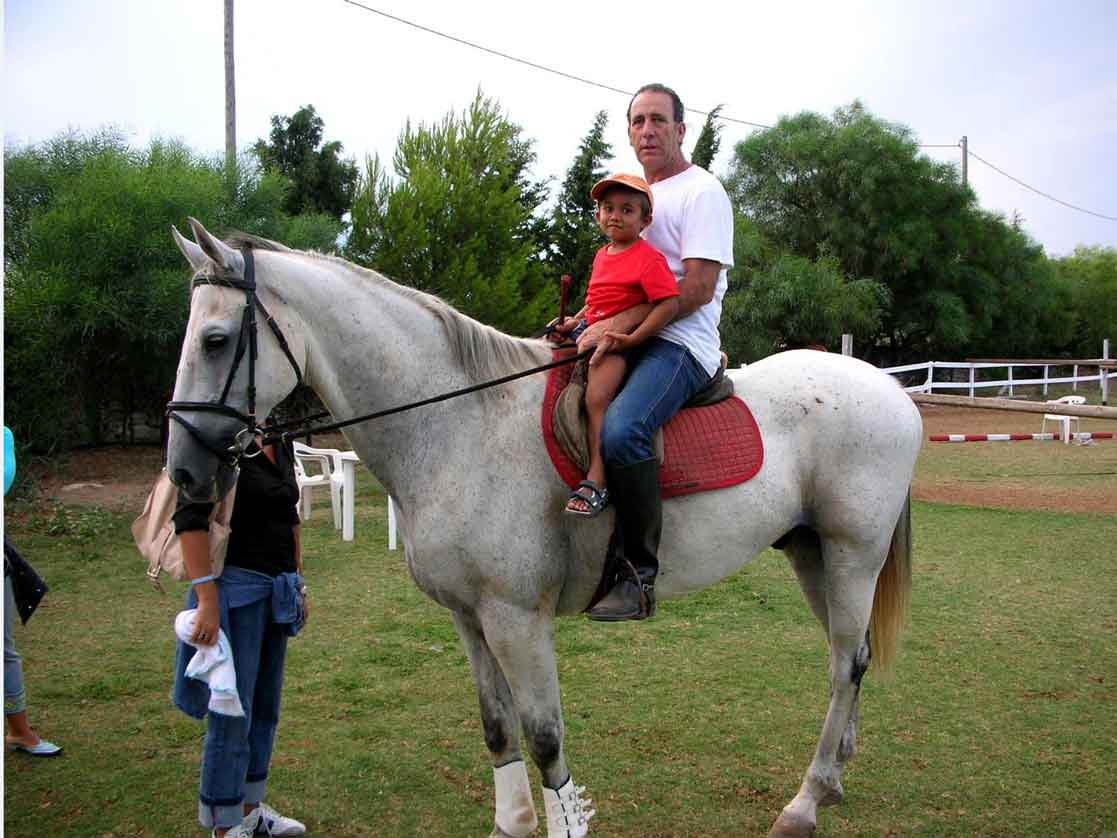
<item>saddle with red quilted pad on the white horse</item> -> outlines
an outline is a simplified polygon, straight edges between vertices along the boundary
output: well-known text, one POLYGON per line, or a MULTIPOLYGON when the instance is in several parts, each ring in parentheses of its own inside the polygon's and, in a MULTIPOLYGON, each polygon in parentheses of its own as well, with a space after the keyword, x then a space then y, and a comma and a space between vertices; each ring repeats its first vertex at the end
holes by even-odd
MULTIPOLYGON (((554 360, 563 353, 555 352, 554 360)), ((724 358, 724 356, 723 356, 724 358)), ((585 432, 586 362, 556 366, 543 399, 543 436, 551 461, 572 489, 590 461, 585 432)), ((661 496, 676 497, 725 488, 755 476, 764 445, 752 411, 733 394, 725 364, 655 439, 661 496)))

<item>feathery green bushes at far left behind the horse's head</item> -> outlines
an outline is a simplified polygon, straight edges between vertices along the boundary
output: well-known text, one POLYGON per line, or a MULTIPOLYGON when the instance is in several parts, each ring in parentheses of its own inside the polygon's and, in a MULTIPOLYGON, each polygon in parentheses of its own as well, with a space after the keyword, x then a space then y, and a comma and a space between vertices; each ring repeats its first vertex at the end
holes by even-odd
POLYGON ((230 197, 222 160, 173 142, 131 149, 112 131, 9 149, 6 407, 20 439, 44 450, 127 438, 133 412, 162 415, 189 294, 172 223, 190 215, 295 246, 336 239, 333 218, 283 212, 286 179, 238 171, 230 197))

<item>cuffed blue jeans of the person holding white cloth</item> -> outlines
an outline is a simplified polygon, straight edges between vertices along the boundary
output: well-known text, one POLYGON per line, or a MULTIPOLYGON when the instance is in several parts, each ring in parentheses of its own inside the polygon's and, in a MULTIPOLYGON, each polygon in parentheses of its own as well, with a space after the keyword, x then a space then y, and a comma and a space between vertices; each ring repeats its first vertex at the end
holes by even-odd
POLYGON ((229 642, 245 717, 206 716, 198 820, 209 828, 236 826, 244 803, 260 802, 267 791, 287 653, 287 631, 273 619, 270 599, 229 610, 229 642))

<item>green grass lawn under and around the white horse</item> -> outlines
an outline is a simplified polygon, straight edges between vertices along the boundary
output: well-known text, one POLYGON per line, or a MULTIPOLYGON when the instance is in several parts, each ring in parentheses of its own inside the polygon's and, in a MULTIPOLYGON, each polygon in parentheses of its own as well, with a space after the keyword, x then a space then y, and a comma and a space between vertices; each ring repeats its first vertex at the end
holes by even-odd
MULTIPOLYGON (((366 475, 357 508, 351 544, 322 504, 304 525, 314 611, 289 650, 269 797, 313 835, 487 835, 468 663, 386 551, 366 475)), ((66 754, 6 756, 4 834, 200 835, 202 725, 168 698, 182 587, 149 588, 126 517, 17 505, 8 520, 51 585, 16 631, 31 720, 66 754)), ((867 676, 846 801, 819 834, 1117 830, 1117 520, 917 504, 915 539, 909 630, 895 672, 867 676)), ((825 644, 777 553, 649 625, 560 621, 557 645, 594 834, 763 835, 795 793, 825 644)))

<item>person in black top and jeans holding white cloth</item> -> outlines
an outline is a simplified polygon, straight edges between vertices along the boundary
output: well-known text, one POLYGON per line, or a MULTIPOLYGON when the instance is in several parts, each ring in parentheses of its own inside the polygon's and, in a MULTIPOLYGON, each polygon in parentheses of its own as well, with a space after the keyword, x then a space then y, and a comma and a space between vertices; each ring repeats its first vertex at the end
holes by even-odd
POLYGON ((198 820, 212 828, 213 838, 306 832, 303 823, 264 802, 287 638, 298 632, 307 616, 297 503, 293 451, 260 448, 257 440, 240 460, 220 575, 214 575, 209 558, 213 504, 192 503, 180 495, 174 514, 191 579, 187 608, 197 609, 187 629, 189 642, 178 645, 174 704, 207 720, 198 820), (212 647, 222 632, 231 648, 244 716, 214 712, 207 684, 185 675, 192 647, 212 647))

